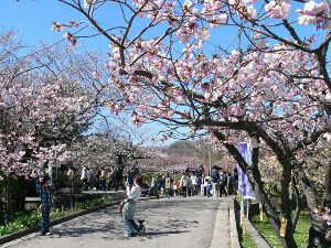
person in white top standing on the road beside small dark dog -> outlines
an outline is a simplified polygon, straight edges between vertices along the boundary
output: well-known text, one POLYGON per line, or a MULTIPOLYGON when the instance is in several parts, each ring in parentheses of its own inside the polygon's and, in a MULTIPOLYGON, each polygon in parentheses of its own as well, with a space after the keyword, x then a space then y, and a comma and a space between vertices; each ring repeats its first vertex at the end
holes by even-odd
POLYGON ((127 198, 124 201, 122 218, 127 234, 125 237, 135 237, 139 234, 139 228, 134 219, 136 214, 136 204, 141 195, 142 179, 136 176, 134 186, 130 188, 127 185, 127 198))

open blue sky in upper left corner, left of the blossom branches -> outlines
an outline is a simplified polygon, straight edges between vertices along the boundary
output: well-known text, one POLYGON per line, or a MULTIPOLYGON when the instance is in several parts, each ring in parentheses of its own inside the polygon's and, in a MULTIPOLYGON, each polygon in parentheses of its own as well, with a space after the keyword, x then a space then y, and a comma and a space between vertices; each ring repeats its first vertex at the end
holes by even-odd
MULTIPOLYGON (((63 33, 52 30, 53 21, 67 22, 81 20, 77 12, 54 0, 1 0, 0 24, 4 30, 12 29, 28 46, 38 46, 40 42, 55 43, 63 33)), ((104 39, 93 42, 82 41, 82 45, 93 50, 105 50, 104 39)))

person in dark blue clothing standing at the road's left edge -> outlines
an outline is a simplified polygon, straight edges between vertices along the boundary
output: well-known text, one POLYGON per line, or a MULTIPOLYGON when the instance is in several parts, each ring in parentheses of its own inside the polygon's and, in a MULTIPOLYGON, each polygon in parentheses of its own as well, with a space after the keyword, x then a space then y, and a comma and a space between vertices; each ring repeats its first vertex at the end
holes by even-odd
POLYGON ((51 177, 45 174, 41 181, 40 188, 40 209, 42 212, 41 235, 51 235, 50 212, 51 212, 51 177))

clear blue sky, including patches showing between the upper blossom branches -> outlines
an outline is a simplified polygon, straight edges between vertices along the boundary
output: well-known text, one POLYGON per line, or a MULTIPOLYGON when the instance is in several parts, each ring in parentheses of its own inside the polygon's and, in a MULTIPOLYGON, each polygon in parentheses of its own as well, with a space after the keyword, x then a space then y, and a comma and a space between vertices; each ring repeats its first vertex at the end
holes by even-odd
MULTIPOLYGON (((52 31, 52 22, 66 23, 71 20, 84 20, 77 11, 60 3, 57 0, 0 0, 0 25, 3 30, 14 30, 18 37, 28 45, 28 48, 39 46, 41 42, 52 44, 63 40, 63 32, 56 33, 52 31)), ((295 11, 293 8, 292 11, 295 11)), ((120 14, 114 6, 104 9, 99 15, 106 23, 120 22, 120 14), (113 9, 111 9, 113 8, 113 9)), ((141 29, 143 21, 137 26, 141 29)), ((300 34, 313 32, 312 26, 300 28, 300 34)), ((281 33, 281 31, 280 31, 281 33)), ((212 43, 215 44, 231 44, 235 31, 229 28, 213 30, 212 43)), ((150 33, 152 35, 152 33, 150 33)), ((104 37, 79 40, 79 45, 90 51, 98 50, 103 52, 108 51, 108 42, 104 37)), ((226 46, 226 45, 225 45, 226 46)), ((215 48, 210 45, 207 52, 215 53, 215 48)), ((154 125, 154 127, 157 127, 154 125)))

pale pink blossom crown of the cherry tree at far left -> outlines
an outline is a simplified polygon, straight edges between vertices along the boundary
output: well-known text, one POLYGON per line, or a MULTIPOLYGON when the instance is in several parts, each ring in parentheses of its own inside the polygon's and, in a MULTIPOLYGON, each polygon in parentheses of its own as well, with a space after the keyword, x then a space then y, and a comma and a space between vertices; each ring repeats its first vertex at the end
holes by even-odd
POLYGON ((68 83, 65 73, 57 76, 55 68, 52 75, 33 71, 36 62, 29 56, 17 58, 19 50, 6 35, 0 35, 0 53, 10 46, 13 55, 0 58, 0 166, 4 172, 25 174, 39 163, 68 158, 62 139, 83 125, 90 115, 90 103, 83 91, 73 90, 77 88, 74 74, 68 83))

